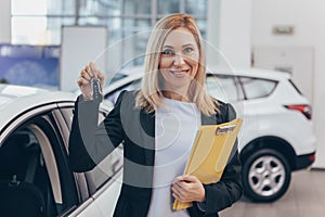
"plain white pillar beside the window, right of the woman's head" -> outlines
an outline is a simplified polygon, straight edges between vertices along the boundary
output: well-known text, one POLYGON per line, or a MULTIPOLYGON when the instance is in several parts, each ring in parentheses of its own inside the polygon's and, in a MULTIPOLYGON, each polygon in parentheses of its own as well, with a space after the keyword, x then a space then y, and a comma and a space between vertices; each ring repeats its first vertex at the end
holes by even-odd
POLYGON ((250 29, 251 0, 209 0, 207 62, 218 49, 230 65, 250 66, 250 29))

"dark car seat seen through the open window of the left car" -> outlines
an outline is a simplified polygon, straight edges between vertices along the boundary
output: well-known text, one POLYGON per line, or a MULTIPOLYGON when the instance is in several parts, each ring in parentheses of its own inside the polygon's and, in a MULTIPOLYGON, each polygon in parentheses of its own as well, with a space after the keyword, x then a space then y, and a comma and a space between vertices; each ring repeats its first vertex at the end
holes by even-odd
POLYGON ((15 133, 0 146, 1 216, 46 216, 43 194, 32 183, 38 161, 28 133, 15 133))

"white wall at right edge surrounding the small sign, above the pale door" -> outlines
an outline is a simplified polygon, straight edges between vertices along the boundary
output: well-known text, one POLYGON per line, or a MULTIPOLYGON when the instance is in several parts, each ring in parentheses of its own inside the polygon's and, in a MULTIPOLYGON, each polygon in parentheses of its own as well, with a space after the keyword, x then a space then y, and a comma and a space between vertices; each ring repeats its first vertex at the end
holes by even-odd
MULTIPOLYGON (((252 47, 306 46, 314 48, 313 120, 317 138, 314 167, 325 167, 324 8, 324 0, 252 0, 252 47), (294 25, 295 34, 273 35, 274 25, 294 25)), ((306 76, 311 75, 307 74, 306 76)))

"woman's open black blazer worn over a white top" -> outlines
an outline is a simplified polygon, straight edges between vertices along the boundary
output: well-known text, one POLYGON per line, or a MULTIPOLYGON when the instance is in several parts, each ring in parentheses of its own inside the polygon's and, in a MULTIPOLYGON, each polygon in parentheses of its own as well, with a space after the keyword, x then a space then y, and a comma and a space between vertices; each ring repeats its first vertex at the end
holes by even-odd
MULTIPOLYGON (((155 114, 135 108, 135 91, 121 92, 115 107, 99 127, 99 104, 82 101, 82 97, 79 97, 75 104, 69 138, 69 164, 74 171, 92 169, 123 142, 123 183, 114 213, 117 217, 145 217, 151 204, 155 162, 155 114)), ((220 102, 219 110, 220 113, 211 117, 202 114, 202 125, 221 124, 236 116, 231 104, 220 102)), ((237 146, 234 149, 236 150, 221 180, 204 184, 206 210, 202 212, 194 203, 187 208, 190 216, 216 217, 219 210, 231 206, 242 196, 240 162, 237 146)))

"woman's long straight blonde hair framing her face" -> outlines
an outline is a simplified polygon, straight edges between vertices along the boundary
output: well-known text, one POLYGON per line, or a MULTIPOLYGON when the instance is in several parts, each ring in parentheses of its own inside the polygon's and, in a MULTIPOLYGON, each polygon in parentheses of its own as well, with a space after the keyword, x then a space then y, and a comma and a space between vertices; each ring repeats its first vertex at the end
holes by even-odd
POLYGON ((219 112, 219 104, 216 99, 208 94, 206 89, 206 54, 202 36, 194 18, 182 13, 165 16, 156 23, 146 47, 144 77, 135 99, 135 106, 143 107, 146 113, 151 113, 164 105, 162 90, 159 85, 160 53, 167 35, 180 27, 184 27, 193 34, 199 50, 197 73, 188 88, 190 100, 196 104, 203 114, 211 116, 219 112))

